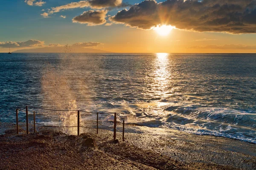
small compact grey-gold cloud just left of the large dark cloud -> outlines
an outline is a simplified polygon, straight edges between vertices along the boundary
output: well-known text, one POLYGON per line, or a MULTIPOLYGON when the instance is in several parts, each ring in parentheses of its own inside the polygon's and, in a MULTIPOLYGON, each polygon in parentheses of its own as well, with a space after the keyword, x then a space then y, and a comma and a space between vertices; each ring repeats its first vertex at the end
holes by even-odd
POLYGON ((106 23, 105 17, 108 13, 107 10, 98 10, 98 11, 85 11, 83 14, 74 17, 73 23, 81 23, 81 24, 87 24, 88 26, 96 26, 96 25, 102 25, 106 23))

